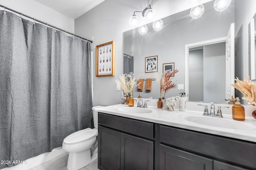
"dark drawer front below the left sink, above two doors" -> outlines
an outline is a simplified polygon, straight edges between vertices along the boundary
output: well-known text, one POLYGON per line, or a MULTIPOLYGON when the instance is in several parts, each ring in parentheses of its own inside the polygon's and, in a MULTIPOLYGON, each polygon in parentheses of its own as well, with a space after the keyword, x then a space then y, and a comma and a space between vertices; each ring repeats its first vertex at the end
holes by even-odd
POLYGON ((154 138, 154 123, 109 115, 106 113, 98 113, 98 124, 126 133, 147 137, 149 139, 154 138))

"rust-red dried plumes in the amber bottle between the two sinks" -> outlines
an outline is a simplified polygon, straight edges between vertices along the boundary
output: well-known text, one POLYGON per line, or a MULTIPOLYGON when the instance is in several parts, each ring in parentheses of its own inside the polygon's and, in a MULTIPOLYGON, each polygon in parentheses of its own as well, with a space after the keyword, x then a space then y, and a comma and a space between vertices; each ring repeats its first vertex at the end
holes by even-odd
POLYGON ((178 72, 179 70, 174 70, 173 72, 170 72, 170 70, 166 70, 163 74, 161 79, 158 77, 158 75, 156 74, 156 81, 158 82, 158 84, 160 85, 160 98, 162 98, 162 94, 164 92, 164 96, 166 94, 166 92, 168 92, 168 90, 170 90, 171 88, 176 87, 177 85, 172 83, 173 78, 171 78, 176 72, 178 72))

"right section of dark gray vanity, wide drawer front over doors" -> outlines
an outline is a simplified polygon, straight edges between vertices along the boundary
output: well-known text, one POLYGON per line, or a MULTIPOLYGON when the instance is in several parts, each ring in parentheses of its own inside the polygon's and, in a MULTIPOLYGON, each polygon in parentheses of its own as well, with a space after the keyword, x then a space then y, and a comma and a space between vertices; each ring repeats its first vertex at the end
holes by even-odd
POLYGON ((255 143, 166 125, 160 125, 160 143, 160 170, 172 170, 166 167, 175 161, 195 170, 256 170, 255 143))

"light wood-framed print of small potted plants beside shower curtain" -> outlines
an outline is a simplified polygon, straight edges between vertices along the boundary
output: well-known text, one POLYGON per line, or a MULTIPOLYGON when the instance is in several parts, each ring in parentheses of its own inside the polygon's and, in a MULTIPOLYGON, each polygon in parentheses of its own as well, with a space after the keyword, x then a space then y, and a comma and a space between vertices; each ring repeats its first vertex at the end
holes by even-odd
POLYGON ((115 75, 115 41, 96 46, 96 77, 115 75))

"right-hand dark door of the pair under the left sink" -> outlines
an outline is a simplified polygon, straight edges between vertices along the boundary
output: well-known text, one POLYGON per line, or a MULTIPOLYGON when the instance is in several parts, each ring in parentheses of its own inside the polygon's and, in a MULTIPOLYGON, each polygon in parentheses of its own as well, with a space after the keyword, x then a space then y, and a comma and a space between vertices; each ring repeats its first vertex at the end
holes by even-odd
POLYGON ((154 142, 121 133, 121 170, 153 170, 154 142))

